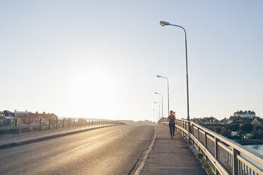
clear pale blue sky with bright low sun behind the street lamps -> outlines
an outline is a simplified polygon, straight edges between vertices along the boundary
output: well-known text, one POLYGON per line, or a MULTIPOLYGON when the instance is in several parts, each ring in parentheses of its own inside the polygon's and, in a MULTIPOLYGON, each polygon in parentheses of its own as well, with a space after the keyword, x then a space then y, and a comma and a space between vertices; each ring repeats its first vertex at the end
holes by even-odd
POLYGON ((263 117, 262 1, 0 1, 0 111, 154 120, 263 117))

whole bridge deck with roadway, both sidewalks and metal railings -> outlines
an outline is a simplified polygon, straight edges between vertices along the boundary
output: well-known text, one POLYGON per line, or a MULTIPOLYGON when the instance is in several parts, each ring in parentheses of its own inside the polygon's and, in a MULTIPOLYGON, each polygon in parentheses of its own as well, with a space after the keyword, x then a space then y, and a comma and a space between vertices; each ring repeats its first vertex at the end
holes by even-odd
POLYGON ((190 121, 176 119, 173 139, 167 119, 154 127, 105 119, 8 122, 0 122, 1 132, 30 132, 0 136, 0 174, 206 174, 192 150, 214 174, 263 174, 262 155, 190 121))

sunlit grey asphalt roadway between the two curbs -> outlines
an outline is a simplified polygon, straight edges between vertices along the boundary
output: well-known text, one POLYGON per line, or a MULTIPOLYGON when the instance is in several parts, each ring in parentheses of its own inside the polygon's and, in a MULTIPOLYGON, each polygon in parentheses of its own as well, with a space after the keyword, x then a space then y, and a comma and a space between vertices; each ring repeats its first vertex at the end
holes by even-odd
POLYGON ((111 126, 4 148, 0 174, 130 174, 153 135, 153 126, 111 126))

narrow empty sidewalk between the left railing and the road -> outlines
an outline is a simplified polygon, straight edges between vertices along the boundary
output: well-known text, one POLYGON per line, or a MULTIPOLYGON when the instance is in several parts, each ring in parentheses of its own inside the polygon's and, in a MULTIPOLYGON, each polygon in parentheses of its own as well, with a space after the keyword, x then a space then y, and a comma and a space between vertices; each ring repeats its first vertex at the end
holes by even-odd
POLYGON ((0 148, 9 147, 13 145, 21 145, 24 143, 32 143, 35 141, 47 140, 50 138, 62 137, 65 135, 81 133, 81 132, 93 130, 95 128, 104 128, 108 126, 115 126, 115 125, 109 124, 109 125, 89 126, 89 127, 83 126, 83 127, 75 127, 75 128, 53 129, 47 131, 33 131, 30 133, 1 135, 0 148))

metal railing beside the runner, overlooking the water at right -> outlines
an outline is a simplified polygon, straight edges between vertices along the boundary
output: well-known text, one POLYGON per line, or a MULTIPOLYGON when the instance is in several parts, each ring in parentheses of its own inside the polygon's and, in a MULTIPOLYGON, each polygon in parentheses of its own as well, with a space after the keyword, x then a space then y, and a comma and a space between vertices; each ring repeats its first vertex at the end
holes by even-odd
MULTIPOLYGON (((167 118, 159 123, 167 123, 167 118)), ((257 152, 192 121, 176 119, 175 128, 204 155, 215 174, 263 174, 263 156, 257 152)))

